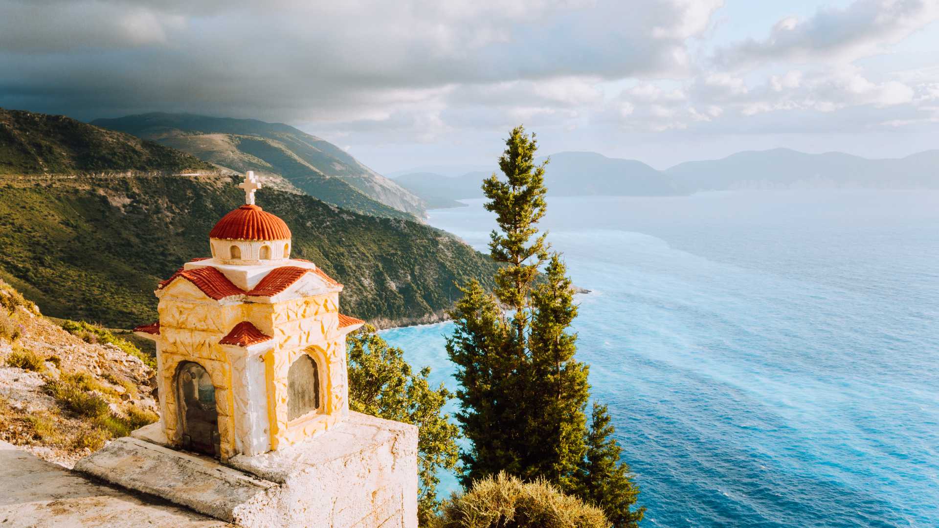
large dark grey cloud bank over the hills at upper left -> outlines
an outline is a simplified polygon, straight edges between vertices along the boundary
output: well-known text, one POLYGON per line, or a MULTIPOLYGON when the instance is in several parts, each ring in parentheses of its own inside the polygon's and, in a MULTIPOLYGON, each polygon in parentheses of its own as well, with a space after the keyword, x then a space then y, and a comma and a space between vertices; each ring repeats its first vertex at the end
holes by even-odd
POLYGON ((330 120, 446 85, 681 76, 714 8, 593 4, 3 0, 0 105, 330 120))

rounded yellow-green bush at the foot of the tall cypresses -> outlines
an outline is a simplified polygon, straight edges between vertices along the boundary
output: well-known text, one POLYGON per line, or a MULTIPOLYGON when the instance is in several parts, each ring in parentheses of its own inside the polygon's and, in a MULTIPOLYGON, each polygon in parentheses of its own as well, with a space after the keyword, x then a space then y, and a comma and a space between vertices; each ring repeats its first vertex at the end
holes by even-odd
POLYGON ((603 511, 544 480, 499 474, 473 483, 443 506, 432 528, 608 528, 603 511))

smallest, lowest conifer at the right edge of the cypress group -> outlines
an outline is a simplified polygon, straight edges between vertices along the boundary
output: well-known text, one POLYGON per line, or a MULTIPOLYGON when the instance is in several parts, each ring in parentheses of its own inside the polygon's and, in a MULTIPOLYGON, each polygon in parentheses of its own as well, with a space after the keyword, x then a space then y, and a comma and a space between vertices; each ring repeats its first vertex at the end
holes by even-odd
POLYGON ((623 448, 612 437, 606 405, 593 403, 591 426, 587 432, 587 454, 577 472, 574 492, 583 501, 607 514, 613 528, 636 528, 645 508, 632 509, 639 497, 629 466, 620 461, 623 448))

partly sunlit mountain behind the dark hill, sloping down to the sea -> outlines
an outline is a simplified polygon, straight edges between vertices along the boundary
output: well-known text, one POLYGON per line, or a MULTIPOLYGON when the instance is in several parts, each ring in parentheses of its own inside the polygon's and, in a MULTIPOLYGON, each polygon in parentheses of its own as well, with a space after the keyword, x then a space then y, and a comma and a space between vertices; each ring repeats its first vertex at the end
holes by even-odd
POLYGON ((376 213, 377 208, 362 200, 368 197, 419 217, 425 212, 419 197, 342 148, 283 123, 153 113, 96 119, 92 124, 129 132, 238 172, 283 176, 300 191, 346 209, 376 213))

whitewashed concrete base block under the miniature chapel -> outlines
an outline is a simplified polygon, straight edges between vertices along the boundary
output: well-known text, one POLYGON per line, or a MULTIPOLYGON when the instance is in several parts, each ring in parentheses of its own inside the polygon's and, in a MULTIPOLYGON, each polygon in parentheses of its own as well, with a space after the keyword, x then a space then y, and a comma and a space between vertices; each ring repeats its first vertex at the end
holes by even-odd
POLYGON ((75 469, 246 527, 417 527, 417 427, 350 412, 315 438, 228 465, 143 429, 75 469))

